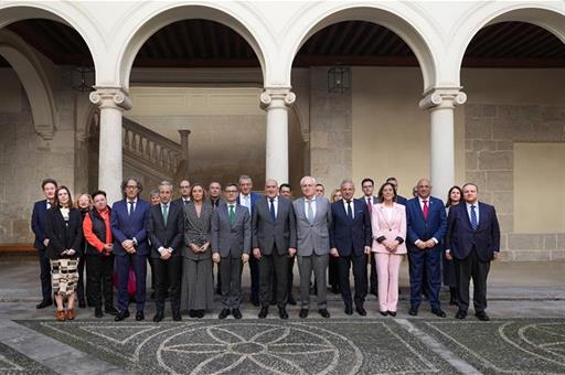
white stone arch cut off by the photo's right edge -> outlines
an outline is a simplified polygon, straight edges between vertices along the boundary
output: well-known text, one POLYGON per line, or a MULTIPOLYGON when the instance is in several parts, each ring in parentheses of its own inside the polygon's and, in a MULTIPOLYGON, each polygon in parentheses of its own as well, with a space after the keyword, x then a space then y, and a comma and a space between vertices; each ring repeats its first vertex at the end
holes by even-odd
POLYGON ((505 3, 505 2, 484 2, 473 8, 470 12, 461 17, 461 22, 457 22, 457 30, 454 31, 451 47, 446 56, 450 56, 448 65, 452 69, 452 79, 459 84, 461 63, 477 33, 490 24, 519 21, 535 24, 547 30, 565 43, 565 10, 557 7, 558 3, 505 3))

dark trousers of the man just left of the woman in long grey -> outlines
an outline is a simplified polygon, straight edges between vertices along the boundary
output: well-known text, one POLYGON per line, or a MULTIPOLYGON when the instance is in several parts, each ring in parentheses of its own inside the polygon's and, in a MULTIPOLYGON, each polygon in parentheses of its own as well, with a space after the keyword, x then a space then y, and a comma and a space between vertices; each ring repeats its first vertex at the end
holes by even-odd
POLYGON ((164 296, 171 288, 171 310, 179 311, 181 304, 182 257, 172 256, 168 260, 151 258, 154 270, 154 301, 157 311, 164 310, 164 296))

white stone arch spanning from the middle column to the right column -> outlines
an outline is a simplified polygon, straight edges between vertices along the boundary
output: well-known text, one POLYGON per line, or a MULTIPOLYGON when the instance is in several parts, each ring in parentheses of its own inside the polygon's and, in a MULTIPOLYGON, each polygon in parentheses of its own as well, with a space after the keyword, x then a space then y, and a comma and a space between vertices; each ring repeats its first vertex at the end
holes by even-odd
POLYGON ((296 28, 298 32, 292 34, 294 39, 289 41, 289 45, 286 45, 288 50, 284 50, 290 57, 286 66, 288 82, 290 82, 292 61, 301 45, 310 36, 330 24, 355 20, 383 25, 402 38, 418 60, 423 75, 424 92, 435 86, 437 64, 433 44, 436 30, 430 26, 431 22, 426 22, 422 19, 420 12, 413 8, 417 6, 405 2, 370 6, 359 6, 355 3, 334 6, 330 2, 330 6, 334 8, 327 9, 326 11, 321 9, 305 11, 292 22, 292 28, 296 28), (423 32, 423 29, 427 29, 426 32, 423 32))

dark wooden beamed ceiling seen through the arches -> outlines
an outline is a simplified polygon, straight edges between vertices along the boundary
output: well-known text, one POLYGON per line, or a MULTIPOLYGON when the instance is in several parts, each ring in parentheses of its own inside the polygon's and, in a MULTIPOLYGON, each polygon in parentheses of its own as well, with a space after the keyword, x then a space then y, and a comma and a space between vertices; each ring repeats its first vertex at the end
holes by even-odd
MULTIPOLYGON (((72 28, 42 19, 12 23, 9 30, 58 65, 92 65, 89 51, 72 28)), ((408 45, 391 30, 364 21, 345 21, 320 30, 300 49, 295 66, 418 66, 408 45)), ((6 61, 0 61, 7 66, 6 61)), ((232 29, 206 20, 184 20, 153 34, 141 47, 138 67, 256 67, 249 44, 232 29)), ((536 25, 489 25, 467 49, 466 67, 565 67, 565 44, 536 25)))

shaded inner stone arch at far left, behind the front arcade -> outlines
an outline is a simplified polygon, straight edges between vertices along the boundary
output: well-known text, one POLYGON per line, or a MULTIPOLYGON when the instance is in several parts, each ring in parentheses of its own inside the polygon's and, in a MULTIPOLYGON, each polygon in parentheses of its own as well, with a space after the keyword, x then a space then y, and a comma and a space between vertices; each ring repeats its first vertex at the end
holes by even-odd
POLYGON ((0 55, 20 78, 30 101, 35 132, 53 139, 56 130, 56 106, 50 77, 35 52, 14 33, 0 31, 0 55))

